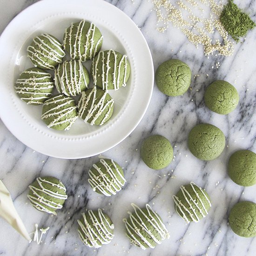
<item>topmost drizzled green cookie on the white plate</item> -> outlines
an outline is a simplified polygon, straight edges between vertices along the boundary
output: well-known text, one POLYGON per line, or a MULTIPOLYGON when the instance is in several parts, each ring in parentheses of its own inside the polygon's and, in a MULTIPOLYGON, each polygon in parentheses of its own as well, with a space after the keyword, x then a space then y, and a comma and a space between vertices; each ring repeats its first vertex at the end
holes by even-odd
POLYGON ((63 46, 72 60, 91 60, 100 50, 103 36, 94 23, 81 20, 65 31, 63 46))

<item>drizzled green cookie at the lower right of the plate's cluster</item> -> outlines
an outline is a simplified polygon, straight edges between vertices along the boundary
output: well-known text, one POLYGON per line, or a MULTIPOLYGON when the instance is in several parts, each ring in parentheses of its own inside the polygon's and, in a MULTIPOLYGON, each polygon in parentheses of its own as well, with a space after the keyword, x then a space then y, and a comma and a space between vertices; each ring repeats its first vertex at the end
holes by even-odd
POLYGON ((102 125, 110 119, 114 111, 114 100, 100 88, 82 92, 78 100, 78 115, 91 125, 102 125))

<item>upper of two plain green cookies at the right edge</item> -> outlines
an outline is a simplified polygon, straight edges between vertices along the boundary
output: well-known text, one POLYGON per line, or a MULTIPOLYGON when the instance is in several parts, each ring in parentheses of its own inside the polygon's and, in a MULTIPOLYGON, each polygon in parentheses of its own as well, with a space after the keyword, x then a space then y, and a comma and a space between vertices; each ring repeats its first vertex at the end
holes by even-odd
POLYGON ((229 177, 241 186, 256 184, 256 154, 250 150, 238 150, 229 158, 229 177))

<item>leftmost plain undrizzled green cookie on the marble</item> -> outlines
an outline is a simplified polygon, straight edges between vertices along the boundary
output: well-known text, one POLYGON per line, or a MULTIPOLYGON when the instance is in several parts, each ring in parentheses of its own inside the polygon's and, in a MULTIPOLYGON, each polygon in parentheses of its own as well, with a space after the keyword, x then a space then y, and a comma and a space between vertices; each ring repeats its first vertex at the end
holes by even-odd
POLYGON ((173 159, 171 143, 162 135, 149 136, 142 142, 141 158, 152 169, 167 167, 173 159))

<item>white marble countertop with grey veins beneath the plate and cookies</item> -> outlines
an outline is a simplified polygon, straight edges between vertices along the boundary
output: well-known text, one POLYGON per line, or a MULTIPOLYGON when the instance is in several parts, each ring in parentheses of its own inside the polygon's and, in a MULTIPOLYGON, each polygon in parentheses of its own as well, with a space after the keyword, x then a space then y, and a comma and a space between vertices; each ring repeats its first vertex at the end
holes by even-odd
MULTIPOLYGON (((0 33, 21 10, 37 0, 1 0, 0 33)), ((90 188, 88 169, 98 156, 64 160, 35 152, 18 141, 0 121, 0 179, 10 190, 14 205, 29 232, 34 224, 50 229, 43 243, 28 244, 7 222, 0 219, 0 255, 3 256, 253 256, 256 238, 236 236, 228 226, 229 211, 239 200, 255 202, 256 186, 236 185, 227 175, 227 160, 237 149, 256 152, 256 29, 243 43, 235 45, 233 56, 204 56, 177 29, 169 26, 165 33, 156 30, 156 13, 152 0, 108 0, 126 13, 141 28, 154 61, 154 67, 171 58, 186 62, 192 70, 191 88, 182 96, 168 97, 155 86, 152 100, 140 124, 131 135, 103 155, 115 159, 123 168, 127 183, 115 196, 98 195, 90 188), (216 68, 216 63, 220 66, 216 68), (214 66, 214 68, 212 68, 214 66), (218 115, 206 108, 205 88, 215 80, 233 84, 240 102, 229 115, 218 115), (226 136, 224 152, 216 160, 196 159, 187 146, 189 130, 199 122, 221 128, 226 136), (141 141, 148 135, 167 137, 175 158, 159 171, 149 169, 141 160, 141 141), (54 175, 67 187, 68 199, 57 216, 41 213, 28 203, 28 185, 38 176, 54 175), (212 208, 198 223, 186 224, 175 212, 172 195, 182 184, 194 181, 209 193, 212 208), (149 203, 169 231, 170 238, 145 251, 130 245, 122 219, 132 210, 131 202, 143 207, 149 203), (77 219, 85 209, 104 208, 115 224, 113 241, 101 249, 84 246, 77 234, 77 219)), ((244 0, 239 7, 256 11, 255 0, 244 0)))

